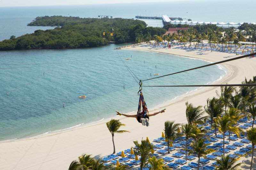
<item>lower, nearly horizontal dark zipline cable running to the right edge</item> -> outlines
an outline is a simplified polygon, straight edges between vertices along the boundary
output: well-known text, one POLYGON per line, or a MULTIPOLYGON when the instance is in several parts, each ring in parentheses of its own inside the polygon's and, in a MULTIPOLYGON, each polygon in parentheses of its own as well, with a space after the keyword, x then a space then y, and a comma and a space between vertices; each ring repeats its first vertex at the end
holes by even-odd
POLYGON ((256 84, 205 84, 205 85, 171 85, 171 86, 142 86, 142 87, 251 87, 256 84))

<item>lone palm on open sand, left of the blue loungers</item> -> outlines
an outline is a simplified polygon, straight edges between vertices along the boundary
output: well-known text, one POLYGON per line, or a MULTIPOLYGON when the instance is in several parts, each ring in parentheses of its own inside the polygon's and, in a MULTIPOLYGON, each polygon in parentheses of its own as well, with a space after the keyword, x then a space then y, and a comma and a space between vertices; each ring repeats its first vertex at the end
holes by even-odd
POLYGON ((121 126, 125 126, 125 124, 122 124, 120 122, 120 120, 111 119, 106 124, 107 124, 108 130, 112 134, 112 141, 113 141, 113 146, 114 146, 113 154, 114 154, 114 153, 116 153, 116 148, 115 148, 115 143, 114 143, 114 134, 115 133, 124 133, 124 132, 129 132, 129 131, 119 131, 118 130, 121 126))

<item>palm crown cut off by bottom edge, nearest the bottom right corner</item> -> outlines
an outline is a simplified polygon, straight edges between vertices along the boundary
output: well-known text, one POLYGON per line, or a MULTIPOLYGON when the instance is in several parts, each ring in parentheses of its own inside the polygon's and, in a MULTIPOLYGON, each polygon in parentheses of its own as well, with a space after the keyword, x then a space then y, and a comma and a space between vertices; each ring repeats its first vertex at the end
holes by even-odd
POLYGON ((221 159, 217 159, 217 164, 219 166, 217 167, 217 170, 237 170, 242 163, 236 163, 236 160, 234 158, 230 158, 229 154, 226 156, 222 156, 221 159))

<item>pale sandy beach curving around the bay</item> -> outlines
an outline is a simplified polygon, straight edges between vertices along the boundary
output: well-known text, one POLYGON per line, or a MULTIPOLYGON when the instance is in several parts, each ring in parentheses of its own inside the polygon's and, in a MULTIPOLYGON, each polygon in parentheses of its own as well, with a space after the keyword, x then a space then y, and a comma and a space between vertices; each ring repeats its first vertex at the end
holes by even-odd
MULTIPOLYGON (((236 54, 230 53, 140 46, 126 47, 122 50, 143 50, 174 54, 211 62, 236 57, 236 54)), ((215 84, 238 84, 245 77, 250 79, 256 75, 256 58, 239 59, 224 63, 222 66, 225 67, 227 74, 221 80, 215 81, 215 84)), ((141 138, 148 137, 153 140, 160 137, 166 120, 186 123, 185 102, 188 101, 195 106, 204 106, 207 98, 217 96, 216 90, 220 91, 220 88, 198 88, 198 90, 178 97, 169 103, 164 103, 158 108, 152 109, 149 107, 150 112, 166 108, 165 113, 150 118, 149 127, 142 126, 134 118, 116 116, 116 119, 121 119, 121 122, 126 124, 123 129, 130 131, 130 133, 115 135, 116 151, 119 152, 134 146, 133 141, 141 140, 141 138)), ((68 169, 70 162, 83 153, 92 154, 95 157, 111 154, 113 152, 112 136, 106 127, 107 121, 109 119, 94 124, 82 125, 67 131, 2 142, 0 143, 0 169, 63 170, 68 169)), ((245 159, 250 160, 251 154, 242 157, 239 162, 245 159)))

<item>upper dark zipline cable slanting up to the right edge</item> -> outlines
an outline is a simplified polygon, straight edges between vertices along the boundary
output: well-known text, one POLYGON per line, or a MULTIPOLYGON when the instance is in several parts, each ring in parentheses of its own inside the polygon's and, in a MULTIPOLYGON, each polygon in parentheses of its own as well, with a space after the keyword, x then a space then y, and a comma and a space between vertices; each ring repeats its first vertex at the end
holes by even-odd
MULTIPOLYGON (((252 56, 252 55, 256 55, 256 53, 251 53, 251 54, 247 54, 247 55, 242 55, 242 56, 235 57, 235 58, 232 58, 232 59, 223 60, 223 61, 218 61, 218 62, 211 63, 211 64, 207 64, 207 65, 204 65, 204 66, 195 67, 195 68, 190 68, 190 69, 183 70, 183 71, 179 71, 179 72, 176 72, 176 73, 166 74, 166 75, 162 75, 162 76, 159 76, 159 77, 154 77, 154 78, 150 78, 150 79, 146 79, 146 80, 142 80, 142 81, 148 81, 148 80, 157 79, 157 78, 160 78, 160 77, 165 77, 165 76, 168 76, 168 75, 173 75, 173 74, 183 73, 183 72, 186 72, 186 71, 195 70, 195 69, 198 69, 198 68, 213 66, 213 65, 220 64, 220 63, 224 63, 224 62, 228 62, 228 61, 233 61, 233 60, 242 59, 242 58, 249 57, 249 56, 252 56)), ((144 86, 144 87, 145 87, 145 86, 144 86)))

